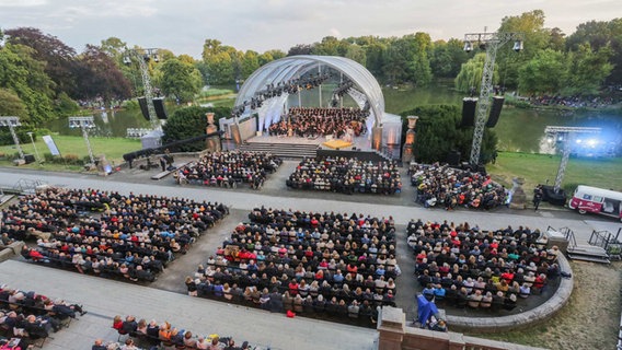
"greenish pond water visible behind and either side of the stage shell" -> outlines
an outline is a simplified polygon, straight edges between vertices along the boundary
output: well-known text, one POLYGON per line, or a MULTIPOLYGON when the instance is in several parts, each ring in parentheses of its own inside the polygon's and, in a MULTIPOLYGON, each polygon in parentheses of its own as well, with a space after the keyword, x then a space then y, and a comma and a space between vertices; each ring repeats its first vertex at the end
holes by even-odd
MULTIPOLYGON (((428 104, 462 104, 463 94, 457 93, 449 84, 437 84, 425 89, 393 89, 383 88, 385 109, 400 114, 418 105, 428 104)), ((322 90, 322 101, 330 101, 331 86, 322 90)), ((318 89, 306 91, 301 95, 303 105, 316 105, 318 89)), ((233 102, 231 102, 232 104, 233 102)), ((290 96, 291 105, 298 104, 298 96, 290 96)), ((344 106, 354 105, 352 100, 345 100, 344 106)), ((173 110, 169 109, 169 115, 173 110)), ((140 109, 111 110, 93 114, 96 129, 90 135, 100 137, 125 137, 127 128, 149 128, 149 122, 142 117, 140 109)), ((622 139, 622 115, 620 112, 558 112, 544 109, 525 109, 505 105, 499 121, 494 130, 498 137, 500 151, 550 153, 552 150, 546 142, 544 128, 546 126, 601 127, 601 139, 614 140, 618 144, 622 139)), ((66 120, 48 122, 46 128, 61 135, 80 136, 80 130, 70 129, 66 120)))

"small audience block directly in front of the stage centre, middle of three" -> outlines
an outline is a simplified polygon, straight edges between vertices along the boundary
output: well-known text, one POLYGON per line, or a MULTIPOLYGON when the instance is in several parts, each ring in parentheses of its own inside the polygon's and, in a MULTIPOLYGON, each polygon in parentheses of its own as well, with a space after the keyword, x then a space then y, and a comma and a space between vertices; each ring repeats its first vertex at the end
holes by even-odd
POLYGON ((365 162, 356 158, 304 159, 286 180, 296 189, 343 194, 394 195, 402 190, 395 161, 365 162))

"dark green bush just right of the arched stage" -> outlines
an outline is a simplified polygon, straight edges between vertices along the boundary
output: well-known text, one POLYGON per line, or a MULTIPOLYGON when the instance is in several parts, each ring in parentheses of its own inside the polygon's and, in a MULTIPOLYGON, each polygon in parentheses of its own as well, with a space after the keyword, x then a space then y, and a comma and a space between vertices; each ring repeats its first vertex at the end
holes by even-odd
MULTIPOLYGON (((454 105, 419 106, 402 113, 403 130, 407 130, 406 116, 419 116, 414 155, 417 162, 445 162, 452 151, 459 151, 461 160, 468 161, 473 140, 473 128, 459 129, 461 112, 454 105)), ((488 163, 496 149, 497 138, 493 130, 486 129, 482 141, 482 162, 488 163)))

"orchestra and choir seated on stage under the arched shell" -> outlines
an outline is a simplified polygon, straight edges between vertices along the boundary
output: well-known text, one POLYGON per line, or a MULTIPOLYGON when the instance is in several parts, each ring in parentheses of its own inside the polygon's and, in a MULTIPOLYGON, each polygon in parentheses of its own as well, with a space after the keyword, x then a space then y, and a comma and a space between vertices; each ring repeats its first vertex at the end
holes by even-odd
MULTIPOLYGON (((365 121, 369 112, 360 108, 315 108, 315 107, 290 107, 283 115, 280 121, 268 127, 270 136, 298 136, 319 137, 333 136, 336 139, 343 137, 358 137, 366 133, 365 121)), ((350 140, 352 141, 352 140, 350 140)))

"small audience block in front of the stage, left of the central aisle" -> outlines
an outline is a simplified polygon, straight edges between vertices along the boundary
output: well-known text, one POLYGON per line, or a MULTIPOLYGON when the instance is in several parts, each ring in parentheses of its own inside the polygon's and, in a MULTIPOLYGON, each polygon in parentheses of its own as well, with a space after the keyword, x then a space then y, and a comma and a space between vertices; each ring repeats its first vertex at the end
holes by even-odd
POLYGON ((207 152, 175 175, 180 184, 237 187, 238 183, 246 183, 260 189, 267 174, 276 172, 280 164, 280 158, 266 152, 207 152))

